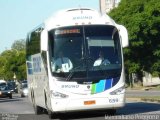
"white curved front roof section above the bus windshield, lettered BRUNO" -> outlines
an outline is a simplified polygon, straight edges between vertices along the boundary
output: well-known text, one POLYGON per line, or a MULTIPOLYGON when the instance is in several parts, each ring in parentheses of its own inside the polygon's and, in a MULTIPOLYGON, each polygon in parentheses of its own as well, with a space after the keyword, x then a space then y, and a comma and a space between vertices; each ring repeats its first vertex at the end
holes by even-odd
POLYGON ((115 22, 108 15, 101 14, 97 10, 89 8, 61 10, 44 22, 47 30, 63 26, 88 24, 115 25, 115 22))

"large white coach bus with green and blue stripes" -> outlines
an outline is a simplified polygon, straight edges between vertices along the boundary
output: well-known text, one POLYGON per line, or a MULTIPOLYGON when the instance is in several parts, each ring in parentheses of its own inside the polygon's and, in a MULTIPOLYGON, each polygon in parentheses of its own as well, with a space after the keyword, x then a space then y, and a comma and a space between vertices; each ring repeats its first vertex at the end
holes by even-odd
POLYGON ((60 112, 115 113, 125 105, 122 48, 128 46, 128 33, 109 16, 88 8, 63 10, 29 32, 26 41, 36 114, 44 109, 51 118, 60 112))

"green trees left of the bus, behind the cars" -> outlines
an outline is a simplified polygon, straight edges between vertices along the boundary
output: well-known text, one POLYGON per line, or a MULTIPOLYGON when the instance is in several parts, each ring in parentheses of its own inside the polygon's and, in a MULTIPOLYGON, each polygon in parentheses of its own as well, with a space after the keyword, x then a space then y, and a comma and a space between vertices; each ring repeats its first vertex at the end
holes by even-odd
MULTIPOLYGON (((20 42, 22 41, 17 40, 12 46, 18 46, 20 42)), ((25 47, 12 47, 11 50, 2 52, 0 55, 0 79, 13 80, 14 74, 16 74, 17 80, 26 79, 25 54, 25 47)))

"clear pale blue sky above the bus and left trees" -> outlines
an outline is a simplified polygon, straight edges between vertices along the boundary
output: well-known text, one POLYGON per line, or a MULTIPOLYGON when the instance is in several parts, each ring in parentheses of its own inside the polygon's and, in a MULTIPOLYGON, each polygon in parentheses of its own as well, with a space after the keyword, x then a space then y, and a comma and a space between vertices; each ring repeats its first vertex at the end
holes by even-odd
POLYGON ((0 53, 58 10, 75 7, 99 10, 99 0, 0 0, 0 53))

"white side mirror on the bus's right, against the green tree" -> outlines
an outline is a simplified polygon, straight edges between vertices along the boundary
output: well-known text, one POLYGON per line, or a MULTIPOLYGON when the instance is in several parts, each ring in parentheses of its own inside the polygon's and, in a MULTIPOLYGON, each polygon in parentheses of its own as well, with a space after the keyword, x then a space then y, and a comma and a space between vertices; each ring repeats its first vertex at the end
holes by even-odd
POLYGON ((119 34, 122 39, 122 47, 128 47, 129 46, 129 40, 128 40, 128 32, 127 29, 123 25, 118 25, 119 34))

